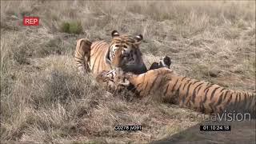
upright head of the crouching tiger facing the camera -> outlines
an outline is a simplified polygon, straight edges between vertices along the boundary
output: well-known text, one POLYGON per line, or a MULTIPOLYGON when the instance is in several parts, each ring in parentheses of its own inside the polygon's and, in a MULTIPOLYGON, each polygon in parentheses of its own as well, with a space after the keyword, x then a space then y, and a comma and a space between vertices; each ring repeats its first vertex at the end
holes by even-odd
POLYGON ((146 66, 142 59, 142 52, 139 45, 142 42, 142 34, 131 36, 127 34, 120 35, 117 30, 112 31, 112 41, 110 42, 110 62, 114 60, 116 50, 121 50, 122 70, 142 74, 146 72, 146 66))

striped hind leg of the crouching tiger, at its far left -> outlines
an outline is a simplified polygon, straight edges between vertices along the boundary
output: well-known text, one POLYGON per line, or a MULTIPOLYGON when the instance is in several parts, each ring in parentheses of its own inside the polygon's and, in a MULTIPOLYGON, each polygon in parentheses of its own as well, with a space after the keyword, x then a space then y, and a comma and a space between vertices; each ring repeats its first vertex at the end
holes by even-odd
POLYGON ((90 61, 90 46, 92 42, 90 42, 86 38, 79 39, 77 42, 74 60, 76 65, 78 66, 79 72, 82 74, 86 74, 90 72, 90 67, 88 65, 88 61, 90 61))

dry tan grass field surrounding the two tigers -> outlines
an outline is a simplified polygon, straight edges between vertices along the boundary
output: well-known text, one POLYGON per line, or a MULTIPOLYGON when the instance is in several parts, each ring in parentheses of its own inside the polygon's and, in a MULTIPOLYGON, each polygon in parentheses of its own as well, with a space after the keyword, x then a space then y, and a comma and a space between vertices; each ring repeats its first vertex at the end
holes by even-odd
POLYGON ((242 1, 1 1, 2 142, 143 143, 196 125, 186 118, 191 110, 127 102, 77 74, 76 40, 140 33, 148 66, 167 54, 178 74, 253 91, 254 11, 255 2, 242 1), (22 26, 24 15, 38 16, 40 26, 22 26), (124 124, 143 130, 114 131, 124 124))

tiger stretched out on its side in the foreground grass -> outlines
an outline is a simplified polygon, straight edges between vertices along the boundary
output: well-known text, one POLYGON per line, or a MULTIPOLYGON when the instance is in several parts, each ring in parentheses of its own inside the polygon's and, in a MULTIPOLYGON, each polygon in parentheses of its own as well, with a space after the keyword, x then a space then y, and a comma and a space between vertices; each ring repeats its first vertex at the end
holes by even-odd
MULTIPOLYGON (((236 110, 247 112, 255 117, 255 93, 228 90, 222 86, 180 76, 168 67, 158 67, 144 74, 121 73, 120 61, 125 56, 117 51, 112 71, 103 71, 98 81, 134 91, 139 98, 158 95, 164 102, 188 107, 205 114, 223 113, 236 110), (119 71, 118 71, 119 70, 119 71)), ((160 62, 159 62, 160 63, 160 62)))

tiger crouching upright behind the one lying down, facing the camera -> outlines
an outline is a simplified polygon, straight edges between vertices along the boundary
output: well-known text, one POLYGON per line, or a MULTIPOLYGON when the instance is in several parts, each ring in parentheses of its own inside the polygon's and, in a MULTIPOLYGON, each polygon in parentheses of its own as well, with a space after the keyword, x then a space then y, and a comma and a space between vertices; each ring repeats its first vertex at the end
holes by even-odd
POLYGON ((90 42, 86 38, 79 39, 77 42, 74 60, 79 72, 86 74, 91 72, 97 76, 102 70, 113 70, 111 65, 115 56, 115 50, 121 49, 126 58, 123 58, 122 70, 142 74, 147 71, 142 59, 142 52, 139 45, 143 40, 142 34, 131 36, 128 34, 120 35, 117 30, 111 33, 112 41, 90 42))

